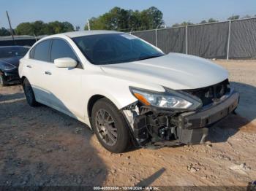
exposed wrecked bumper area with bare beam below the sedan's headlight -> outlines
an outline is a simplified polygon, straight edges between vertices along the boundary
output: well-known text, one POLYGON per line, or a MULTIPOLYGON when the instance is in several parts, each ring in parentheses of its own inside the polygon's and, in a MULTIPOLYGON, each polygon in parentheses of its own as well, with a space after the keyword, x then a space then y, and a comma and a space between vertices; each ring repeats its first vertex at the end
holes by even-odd
POLYGON ((134 138, 140 146, 173 142, 175 144, 201 144, 208 136, 208 129, 222 120, 238 106, 239 94, 232 91, 219 102, 194 112, 177 113, 155 109, 124 109, 134 138))

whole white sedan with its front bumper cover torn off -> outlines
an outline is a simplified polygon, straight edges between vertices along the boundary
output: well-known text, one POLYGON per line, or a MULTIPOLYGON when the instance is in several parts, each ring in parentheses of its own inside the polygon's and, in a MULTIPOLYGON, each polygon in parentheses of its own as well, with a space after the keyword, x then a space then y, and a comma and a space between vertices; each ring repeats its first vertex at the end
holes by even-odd
POLYGON ((89 125, 103 147, 199 144, 233 112, 228 74, 203 58, 169 53, 115 31, 45 37, 20 60, 30 106, 38 103, 89 125))

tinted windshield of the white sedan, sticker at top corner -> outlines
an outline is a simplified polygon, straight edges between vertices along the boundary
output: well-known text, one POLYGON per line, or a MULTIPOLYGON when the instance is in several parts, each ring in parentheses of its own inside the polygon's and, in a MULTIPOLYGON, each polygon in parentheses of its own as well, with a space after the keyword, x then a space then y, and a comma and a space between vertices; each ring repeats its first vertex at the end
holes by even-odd
POLYGON ((164 55, 157 48, 129 34, 97 34, 72 38, 93 64, 140 61, 164 55))

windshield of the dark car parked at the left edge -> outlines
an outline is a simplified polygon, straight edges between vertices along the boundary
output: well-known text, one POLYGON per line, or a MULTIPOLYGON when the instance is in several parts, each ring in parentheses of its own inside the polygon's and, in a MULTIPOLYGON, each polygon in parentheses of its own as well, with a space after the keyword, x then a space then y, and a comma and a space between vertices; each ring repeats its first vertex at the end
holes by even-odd
POLYGON ((28 51, 29 47, 0 47, 0 58, 24 56, 28 51))

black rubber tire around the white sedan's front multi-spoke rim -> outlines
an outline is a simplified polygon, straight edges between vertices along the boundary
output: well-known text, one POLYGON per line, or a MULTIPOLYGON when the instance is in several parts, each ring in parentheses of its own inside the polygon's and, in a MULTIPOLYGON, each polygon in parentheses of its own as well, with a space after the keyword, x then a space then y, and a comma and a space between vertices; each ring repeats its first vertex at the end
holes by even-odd
MULTIPOLYGON (((108 114, 106 114, 107 117, 109 117, 108 114)), ((130 144, 129 127, 127 125, 126 120, 124 119, 124 116, 121 114, 121 112, 118 111, 116 106, 111 101, 109 101, 107 98, 102 98, 99 101, 97 101, 92 108, 91 117, 91 125, 94 129, 94 133, 96 134, 100 144, 102 144, 102 146, 105 147, 105 149, 108 149, 108 151, 115 153, 125 152, 127 150, 130 144), (102 133, 100 133, 103 131, 99 131, 99 122, 97 121, 97 119, 99 116, 99 112, 102 110, 108 112, 110 117, 112 117, 112 130, 113 128, 116 128, 116 143, 112 143, 113 145, 106 144, 104 138, 102 138, 102 133)), ((101 125, 100 127, 102 126, 105 125, 101 125)), ((112 132, 112 130, 110 131, 112 132)), ((108 131, 108 133, 110 133, 110 131, 108 131)), ((108 135, 108 133, 106 134, 108 135)))

